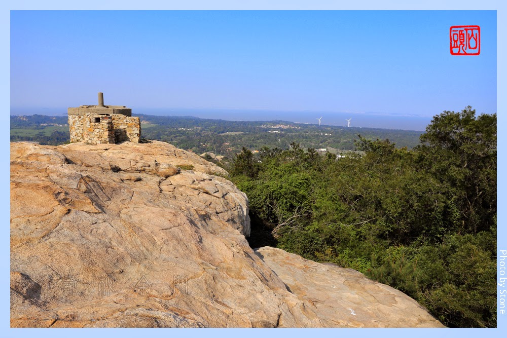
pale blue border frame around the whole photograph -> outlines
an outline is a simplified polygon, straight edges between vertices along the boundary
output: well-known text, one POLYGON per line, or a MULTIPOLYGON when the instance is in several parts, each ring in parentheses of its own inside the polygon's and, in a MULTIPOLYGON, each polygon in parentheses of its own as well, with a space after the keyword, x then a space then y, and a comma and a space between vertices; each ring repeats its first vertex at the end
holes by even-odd
MULTIPOLYGON (((9 165, 7 158, 9 156, 10 131, 9 131, 9 116, 10 116, 10 11, 11 10, 81 10, 81 9, 94 9, 94 10, 112 10, 112 9, 125 9, 125 10, 496 10, 497 11, 497 112, 498 112, 498 172, 503 172, 505 169, 505 146, 507 145, 506 134, 504 131, 507 128, 507 114, 505 107, 507 104, 507 85, 505 78, 506 74, 506 40, 505 33, 507 31, 507 11, 502 0, 427 0, 427 1, 402 1, 402 0, 387 0, 384 2, 376 0, 356 0, 350 3, 340 3, 333 0, 247 0, 247 1, 233 1, 233 0, 192 0, 192 1, 153 1, 144 0, 114 0, 105 2, 104 0, 88 0, 87 2, 73 3, 62 0, 47 0, 45 2, 38 2, 35 0, 29 1, 12 1, 8 4, 0 5, 2 7, 0 16, 0 25, 2 26, 2 91, 0 97, 2 100, 1 107, 3 113, 0 114, 0 137, 3 142, 0 143, 0 152, 2 154, 2 162, 4 165, 0 166, 0 192, 2 192, 0 210, 4 218, 4 230, 1 237, 0 250, 0 337, 24 337, 37 335, 38 337, 88 337, 94 336, 110 336, 118 335, 124 337, 143 337, 143 336, 175 336, 175 337, 188 337, 188 336, 245 336, 257 337, 261 336, 275 336, 275 335, 356 335, 363 337, 372 336, 410 336, 412 337, 440 337, 440 336, 462 336, 462 335, 505 335, 505 328, 507 327, 507 314, 498 316, 498 326, 496 329, 11 329, 10 328, 10 296, 7 290, 9 289, 9 267, 10 267, 10 243, 9 243, 9 224, 10 214, 9 208, 9 180, 7 177, 10 175, 9 165), (5 162, 4 162, 5 161, 5 162), (373 330, 373 331, 372 331, 373 330), (480 331, 478 331, 480 330, 480 331)), ((498 202, 499 206, 505 205, 505 188, 506 179, 499 176, 497 180, 498 187, 498 202)), ((507 229, 505 229, 506 209, 498 208, 498 249, 507 250, 507 229)))

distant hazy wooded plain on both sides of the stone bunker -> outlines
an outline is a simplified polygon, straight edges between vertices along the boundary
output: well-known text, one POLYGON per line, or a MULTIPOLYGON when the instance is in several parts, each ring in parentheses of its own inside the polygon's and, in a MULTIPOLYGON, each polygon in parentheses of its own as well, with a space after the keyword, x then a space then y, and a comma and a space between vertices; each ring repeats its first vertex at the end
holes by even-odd
MULTIPOLYGON (((190 116, 135 115, 141 121, 146 139, 171 143, 196 154, 212 152, 229 159, 241 152, 263 146, 287 148, 297 141, 303 147, 329 148, 330 151, 354 149, 354 137, 389 138, 398 146, 417 145, 420 131, 311 125, 287 121, 226 121, 190 116), (334 148, 334 149, 332 149, 334 148)), ((44 115, 11 116, 11 141, 37 141, 59 145, 69 142, 67 117, 44 115)))

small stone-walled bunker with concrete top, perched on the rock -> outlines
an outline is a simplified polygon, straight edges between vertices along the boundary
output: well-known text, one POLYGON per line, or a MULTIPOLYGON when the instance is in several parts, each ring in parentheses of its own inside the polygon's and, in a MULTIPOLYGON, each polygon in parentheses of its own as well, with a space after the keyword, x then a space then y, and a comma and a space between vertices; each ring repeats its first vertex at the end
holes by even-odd
POLYGON ((68 108, 70 142, 88 144, 139 142, 141 125, 132 117, 132 109, 124 105, 104 105, 104 95, 98 93, 97 105, 68 108))

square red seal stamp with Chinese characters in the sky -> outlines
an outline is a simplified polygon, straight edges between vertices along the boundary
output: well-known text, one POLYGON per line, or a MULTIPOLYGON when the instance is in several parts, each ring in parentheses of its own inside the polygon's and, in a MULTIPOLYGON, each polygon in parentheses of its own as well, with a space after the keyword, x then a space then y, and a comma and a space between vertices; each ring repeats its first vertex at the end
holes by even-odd
POLYGON ((479 55, 481 53, 481 27, 451 26, 449 40, 452 55, 479 55))

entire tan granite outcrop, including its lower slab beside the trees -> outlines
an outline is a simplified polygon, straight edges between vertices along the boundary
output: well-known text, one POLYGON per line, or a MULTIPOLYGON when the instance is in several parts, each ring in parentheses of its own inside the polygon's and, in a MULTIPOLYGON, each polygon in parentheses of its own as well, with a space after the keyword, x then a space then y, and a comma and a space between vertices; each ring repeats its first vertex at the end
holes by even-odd
POLYGON ((164 142, 11 143, 11 326, 441 326, 357 272, 254 253, 246 196, 218 175, 164 142))

